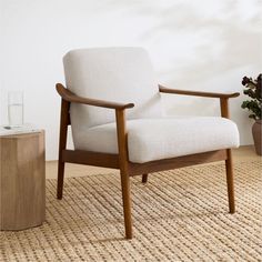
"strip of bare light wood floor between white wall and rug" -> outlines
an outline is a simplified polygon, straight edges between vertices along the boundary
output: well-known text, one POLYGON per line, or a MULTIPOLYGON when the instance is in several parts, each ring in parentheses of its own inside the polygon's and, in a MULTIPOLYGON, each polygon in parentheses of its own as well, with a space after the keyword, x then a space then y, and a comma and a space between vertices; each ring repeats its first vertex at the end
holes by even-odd
MULTIPOLYGON (((256 155, 254 152, 253 145, 243 145, 239 149, 233 150, 233 161, 235 162, 243 162, 243 161, 252 161, 252 160, 260 160, 262 158, 256 155)), ((57 161, 48 161, 46 164, 47 179, 56 179, 57 178, 57 161)), ((90 165, 81 165, 81 164, 66 164, 66 178, 74 178, 74 177, 83 177, 83 175, 91 175, 98 173, 118 173, 118 170, 114 169, 104 169, 104 168, 97 168, 90 165)))

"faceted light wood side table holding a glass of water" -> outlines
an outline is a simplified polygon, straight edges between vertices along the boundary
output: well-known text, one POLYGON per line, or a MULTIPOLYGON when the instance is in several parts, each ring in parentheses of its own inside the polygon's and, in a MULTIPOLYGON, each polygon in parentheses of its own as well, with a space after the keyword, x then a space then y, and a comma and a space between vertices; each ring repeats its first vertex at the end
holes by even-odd
POLYGON ((44 221, 44 131, 0 137, 0 230, 44 221))

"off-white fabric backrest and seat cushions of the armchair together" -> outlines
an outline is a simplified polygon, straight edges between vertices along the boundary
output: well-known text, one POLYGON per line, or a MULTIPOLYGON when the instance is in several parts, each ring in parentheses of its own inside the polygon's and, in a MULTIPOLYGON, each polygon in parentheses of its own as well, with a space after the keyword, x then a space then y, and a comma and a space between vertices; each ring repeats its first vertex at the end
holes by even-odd
MULTIPOLYGON (((238 128, 228 119, 163 117, 153 69, 141 48, 74 50, 63 61, 73 93, 134 103, 125 110, 131 162, 239 147, 238 128)), ((118 153, 114 110, 72 103, 70 115, 75 149, 118 153)))

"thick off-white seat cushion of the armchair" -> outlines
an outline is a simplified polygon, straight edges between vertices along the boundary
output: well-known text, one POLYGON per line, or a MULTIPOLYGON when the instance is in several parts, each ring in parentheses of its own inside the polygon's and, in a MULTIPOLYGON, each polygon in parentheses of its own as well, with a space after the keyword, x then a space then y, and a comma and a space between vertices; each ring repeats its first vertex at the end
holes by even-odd
MULTIPOLYGON (((129 120, 129 160, 143 163, 220 149, 238 148, 236 124, 224 118, 191 117, 129 120)), ((118 153, 115 123, 81 129, 75 149, 118 153)))

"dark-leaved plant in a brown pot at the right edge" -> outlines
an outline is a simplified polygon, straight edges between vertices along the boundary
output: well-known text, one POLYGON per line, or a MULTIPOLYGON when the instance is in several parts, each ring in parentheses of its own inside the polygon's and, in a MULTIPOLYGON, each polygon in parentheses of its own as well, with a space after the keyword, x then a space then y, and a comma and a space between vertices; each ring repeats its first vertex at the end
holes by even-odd
POLYGON ((243 93, 249 95, 251 100, 243 101, 241 108, 248 109, 251 119, 255 122, 252 127, 255 152, 262 155, 262 73, 256 79, 244 77, 242 80, 244 85, 243 93))

